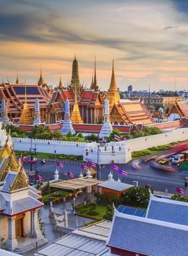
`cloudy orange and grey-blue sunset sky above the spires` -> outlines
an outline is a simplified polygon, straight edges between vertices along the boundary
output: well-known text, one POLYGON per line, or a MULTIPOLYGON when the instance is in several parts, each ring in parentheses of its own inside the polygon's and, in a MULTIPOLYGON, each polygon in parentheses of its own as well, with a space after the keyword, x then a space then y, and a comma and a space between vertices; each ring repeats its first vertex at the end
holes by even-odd
POLYGON ((187 0, 0 0, 0 82, 71 81, 77 56, 81 83, 188 90, 187 0))

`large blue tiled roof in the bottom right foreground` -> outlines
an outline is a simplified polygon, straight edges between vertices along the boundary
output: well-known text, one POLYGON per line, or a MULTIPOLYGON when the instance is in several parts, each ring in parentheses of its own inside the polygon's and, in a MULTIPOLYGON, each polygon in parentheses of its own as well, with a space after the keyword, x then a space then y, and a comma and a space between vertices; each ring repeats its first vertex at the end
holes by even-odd
POLYGON ((140 218, 138 221, 115 216, 107 245, 144 255, 187 255, 188 231, 142 220, 147 219, 140 218))

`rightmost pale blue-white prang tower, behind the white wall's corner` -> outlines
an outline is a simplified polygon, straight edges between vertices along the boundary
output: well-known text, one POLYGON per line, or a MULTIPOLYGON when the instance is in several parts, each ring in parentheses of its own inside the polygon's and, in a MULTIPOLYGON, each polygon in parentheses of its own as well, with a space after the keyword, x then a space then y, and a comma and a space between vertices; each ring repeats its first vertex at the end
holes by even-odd
POLYGON ((104 115, 103 126, 101 128, 99 136, 100 137, 109 136, 111 131, 113 131, 113 128, 112 128, 110 117, 109 117, 109 101, 105 100, 105 115, 104 115))

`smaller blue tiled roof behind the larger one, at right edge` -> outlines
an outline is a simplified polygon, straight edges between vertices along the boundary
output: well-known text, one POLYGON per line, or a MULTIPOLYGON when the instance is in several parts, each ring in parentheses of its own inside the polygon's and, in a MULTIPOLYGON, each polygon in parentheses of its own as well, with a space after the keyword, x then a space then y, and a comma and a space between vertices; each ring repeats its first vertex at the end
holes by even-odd
POLYGON ((171 203, 151 200, 147 218, 187 226, 188 203, 187 205, 181 205, 173 203, 173 200, 168 201, 171 201, 171 203))

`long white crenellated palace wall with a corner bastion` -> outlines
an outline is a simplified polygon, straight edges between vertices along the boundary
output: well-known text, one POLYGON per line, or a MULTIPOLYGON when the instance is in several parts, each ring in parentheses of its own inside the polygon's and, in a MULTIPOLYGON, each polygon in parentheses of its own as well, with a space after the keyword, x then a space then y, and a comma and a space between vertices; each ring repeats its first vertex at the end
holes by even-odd
POLYGON ((138 150, 145 150, 153 146, 162 146, 173 141, 183 141, 188 139, 188 128, 177 129, 152 135, 147 137, 140 137, 137 139, 129 139, 128 141, 120 141, 107 143, 106 146, 98 146, 97 143, 83 143, 71 141, 49 141, 42 139, 21 139, 12 138, 14 142, 14 150, 30 150, 36 148, 37 152, 44 152, 49 154, 73 154, 75 156, 83 155, 83 160, 97 162, 100 164, 108 164, 111 160, 114 162, 125 163, 131 160, 131 152, 138 150), (86 150, 88 156, 86 156, 86 150))

